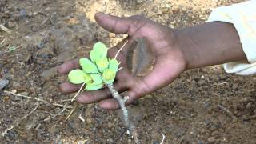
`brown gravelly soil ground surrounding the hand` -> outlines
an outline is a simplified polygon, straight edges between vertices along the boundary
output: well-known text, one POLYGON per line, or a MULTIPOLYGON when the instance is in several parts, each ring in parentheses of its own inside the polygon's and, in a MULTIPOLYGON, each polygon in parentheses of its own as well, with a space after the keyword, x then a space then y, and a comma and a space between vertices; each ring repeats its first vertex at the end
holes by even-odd
MULTIPOLYGON (((10 82, 0 92, 0 143, 134 143, 122 125, 120 111, 78 105, 65 121, 65 101, 58 84, 65 75, 56 66, 81 57, 94 42, 114 46, 124 35, 110 34, 94 13, 142 14, 173 28, 206 21, 217 6, 240 0, 1 0, 0 78, 10 82), (30 113, 31 112, 31 113, 30 113), (27 114, 27 115, 26 115, 27 114), (78 116, 85 119, 82 122, 78 116)), ((129 106, 141 143, 256 143, 256 77, 226 74, 222 66, 188 70, 162 90, 129 106)))

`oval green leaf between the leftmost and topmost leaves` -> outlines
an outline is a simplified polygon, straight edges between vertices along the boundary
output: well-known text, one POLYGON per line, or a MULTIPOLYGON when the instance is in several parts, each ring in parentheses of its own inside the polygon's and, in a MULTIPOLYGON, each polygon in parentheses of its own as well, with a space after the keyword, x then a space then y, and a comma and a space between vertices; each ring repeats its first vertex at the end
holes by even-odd
POLYGON ((97 66, 88 58, 80 58, 79 64, 86 73, 98 73, 97 66))

